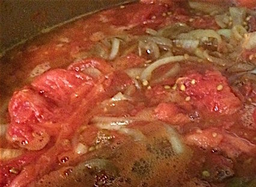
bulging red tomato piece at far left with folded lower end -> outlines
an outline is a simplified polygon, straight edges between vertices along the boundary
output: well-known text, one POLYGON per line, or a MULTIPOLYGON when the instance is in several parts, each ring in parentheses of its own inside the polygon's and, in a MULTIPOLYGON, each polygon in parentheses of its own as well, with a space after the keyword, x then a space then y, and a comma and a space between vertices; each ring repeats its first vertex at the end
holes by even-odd
POLYGON ((37 124, 52 119, 52 108, 52 104, 29 88, 15 92, 8 107, 11 122, 7 139, 21 147, 43 148, 49 141, 49 134, 37 124))

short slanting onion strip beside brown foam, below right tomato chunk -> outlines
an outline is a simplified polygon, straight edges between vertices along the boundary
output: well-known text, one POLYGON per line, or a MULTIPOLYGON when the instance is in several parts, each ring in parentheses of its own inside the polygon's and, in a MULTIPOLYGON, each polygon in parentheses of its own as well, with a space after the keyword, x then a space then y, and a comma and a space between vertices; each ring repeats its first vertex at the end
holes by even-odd
POLYGON ((174 128, 171 128, 169 125, 165 125, 166 132, 168 134, 169 142, 172 145, 172 150, 176 154, 181 154, 184 152, 184 144, 180 140, 180 135, 175 131, 174 128))

